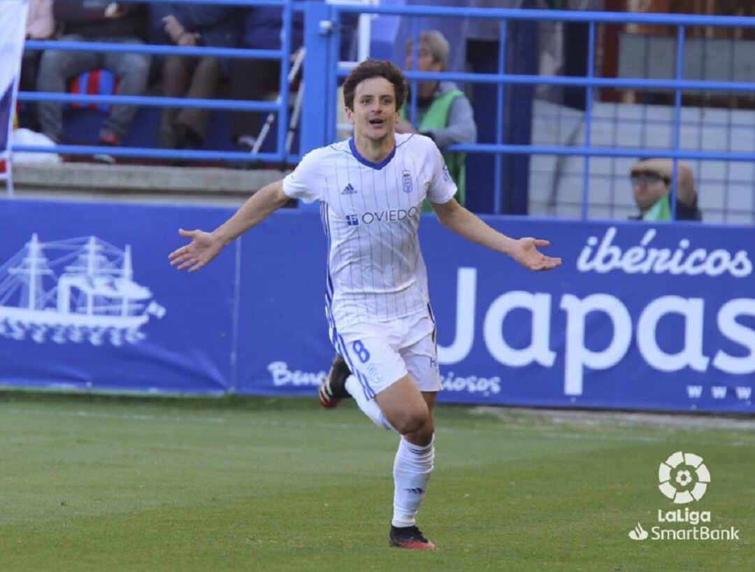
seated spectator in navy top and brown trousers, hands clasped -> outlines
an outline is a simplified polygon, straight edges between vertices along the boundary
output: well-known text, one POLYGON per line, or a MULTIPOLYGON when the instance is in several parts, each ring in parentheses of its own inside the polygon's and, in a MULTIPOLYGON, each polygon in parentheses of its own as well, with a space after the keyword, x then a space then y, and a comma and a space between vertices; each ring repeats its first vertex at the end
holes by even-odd
MULTIPOLYGON (((236 8, 166 2, 150 5, 153 40, 177 46, 233 48, 241 39, 236 8)), ((222 65, 217 57, 168 56, 162 63, 165 97, 211 99, 220 86, 222 65)), ((160 121, 161 147, 199 149, 205 142, 212 111, 197 107, 166 107, 160 121)))

